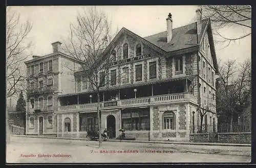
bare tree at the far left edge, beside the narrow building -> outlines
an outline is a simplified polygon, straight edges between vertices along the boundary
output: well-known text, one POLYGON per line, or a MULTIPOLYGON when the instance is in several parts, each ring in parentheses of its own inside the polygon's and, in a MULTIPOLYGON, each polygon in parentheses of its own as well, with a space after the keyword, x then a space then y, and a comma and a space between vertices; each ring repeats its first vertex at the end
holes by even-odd
MULTIPOLYGON (((32 24, 20 22, 19 14, 7 9, 6 19, 6 79, 7 98, 18 95, 26 89, 26 77, 22 74, 22 64, 29 56, 32 43, 28 34, 32 24)), ((25 90, 26 91, 26 90, 25 90)))

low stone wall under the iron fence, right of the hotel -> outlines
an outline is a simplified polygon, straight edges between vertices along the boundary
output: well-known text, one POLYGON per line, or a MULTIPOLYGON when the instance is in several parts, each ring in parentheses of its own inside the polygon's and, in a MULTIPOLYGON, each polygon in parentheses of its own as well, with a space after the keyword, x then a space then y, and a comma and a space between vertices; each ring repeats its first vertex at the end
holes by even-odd
POLYGON ((218 133, 221 143, 251 143, 251 132, 218 133))

